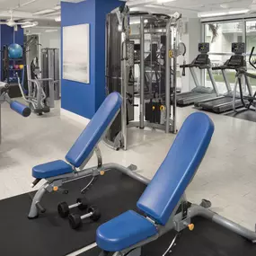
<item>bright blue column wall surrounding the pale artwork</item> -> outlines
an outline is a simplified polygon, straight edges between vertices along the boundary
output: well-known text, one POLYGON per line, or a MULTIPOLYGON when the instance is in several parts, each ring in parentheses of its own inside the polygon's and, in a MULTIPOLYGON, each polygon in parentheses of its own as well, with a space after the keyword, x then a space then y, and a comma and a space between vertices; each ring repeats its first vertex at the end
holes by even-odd
MULTIPOLYGON (((105 98, 106 14, 119 5, 118 0, 87 0, 76 4, 61 2, 62 39, 63 27, 90 24, 90 84, 63 78, 61 82, 61 107, 87 119, 93 118, 105 98)), ((63 59, 63 40, 61 41, 63 59)), ((61 76, 63 77, 63 72, 61 76)))

